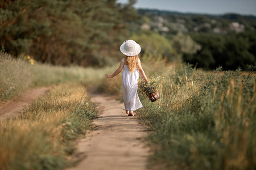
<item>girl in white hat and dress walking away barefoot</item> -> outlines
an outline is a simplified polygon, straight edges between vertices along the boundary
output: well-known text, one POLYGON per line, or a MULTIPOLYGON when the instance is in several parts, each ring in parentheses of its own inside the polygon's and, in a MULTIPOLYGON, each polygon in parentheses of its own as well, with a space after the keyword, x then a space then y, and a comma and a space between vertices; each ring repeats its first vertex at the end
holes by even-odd
POLYGON ((133 40, 127 40, 120 46, 120 50, 125 54, 120 65, 113 74, 106 74, 107 78, 122 74, 123 102, 125 103, 125 112, 128 116, 134 116, 133 111, 142 107, 141 101, 137 93, 139 74, 148 82, 142 67, 138 54, 141 52, 141 46, 133 40))

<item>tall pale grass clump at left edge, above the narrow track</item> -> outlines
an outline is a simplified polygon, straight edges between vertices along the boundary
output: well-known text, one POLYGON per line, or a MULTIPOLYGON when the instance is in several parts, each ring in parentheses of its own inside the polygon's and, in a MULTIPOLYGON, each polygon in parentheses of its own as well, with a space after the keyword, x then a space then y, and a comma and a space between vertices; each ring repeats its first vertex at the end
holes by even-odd
POLYGON ((29 63, 0 52, 0 101, 18 95, 20 91, 31 87, 32 82, 33 74, 29 63))

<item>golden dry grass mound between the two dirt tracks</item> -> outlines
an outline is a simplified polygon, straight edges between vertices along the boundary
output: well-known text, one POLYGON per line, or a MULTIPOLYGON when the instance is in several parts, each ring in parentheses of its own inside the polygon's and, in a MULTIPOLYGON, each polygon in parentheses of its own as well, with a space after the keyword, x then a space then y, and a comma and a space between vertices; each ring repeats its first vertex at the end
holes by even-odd
POLYGON ((23 114, 0 122, 0 169, 63 169, 72 164, 73 141, 97 117, 86 89, 60 84, 23 114))

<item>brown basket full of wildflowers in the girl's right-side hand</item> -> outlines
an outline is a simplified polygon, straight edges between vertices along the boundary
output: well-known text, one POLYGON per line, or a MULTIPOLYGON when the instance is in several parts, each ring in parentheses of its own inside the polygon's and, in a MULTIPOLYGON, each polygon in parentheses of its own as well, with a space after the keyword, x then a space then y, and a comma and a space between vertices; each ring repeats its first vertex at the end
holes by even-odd
POLYGON ((159 83, 161 82, 160 78, 161 76, 157 78, 154 78, 154 76, 151 76, 148 79, 147 83, 143 79, 139 79, 138 92, 143 95, 146 95, 149 98, 149 100, 151 100, 152 102, 158 100, 160 98, 160 95, 157 88, 159 86, 159 83))

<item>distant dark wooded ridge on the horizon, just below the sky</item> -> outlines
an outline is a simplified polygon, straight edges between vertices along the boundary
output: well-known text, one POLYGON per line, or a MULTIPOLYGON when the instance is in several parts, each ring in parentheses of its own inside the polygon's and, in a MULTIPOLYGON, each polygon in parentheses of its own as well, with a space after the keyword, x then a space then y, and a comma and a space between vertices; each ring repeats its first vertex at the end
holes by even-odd
POLYGON ((147 16, 154 20, 155 16, 162 16, 167 23, 167 27, 173 26, 173 23, 183 24, 185 29, 177 30, 170 29, 169 33, 177 33, 179 31, 185 32, 212 32, 214 28, 220 29, 220 32, 230 32, 230 23, 237 22, 244 25, 245 31, 256 29, 256 16, 253 15, 240 15, 240 14, 223 14, 223 15, 209 15, 209 14, 196 14, 196 13, 183 13, 174 11, 162 10, 149 10, 138 9, 138 14, 147 16), (170 25, 171 23, 171 25, 170 25))

